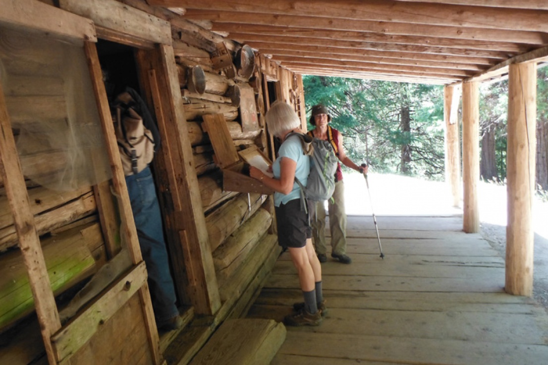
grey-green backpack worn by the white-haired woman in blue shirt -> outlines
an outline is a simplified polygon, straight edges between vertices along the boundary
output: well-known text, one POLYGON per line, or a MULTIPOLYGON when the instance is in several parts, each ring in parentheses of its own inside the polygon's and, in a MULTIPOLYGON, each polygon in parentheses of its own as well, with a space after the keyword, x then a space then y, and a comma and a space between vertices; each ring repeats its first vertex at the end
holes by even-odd
POLYGON ((299 179, 295 177, 295 182, 301 188, 301 207, 307 211, 305 199, 324 201, 333 195, 335 172, 339 160, 328 141, 310 137, 307 134, 295 132, 290 134, 299 137, 303 153, 310 156, 310 173, 306 187, 302 186, 299 179))

